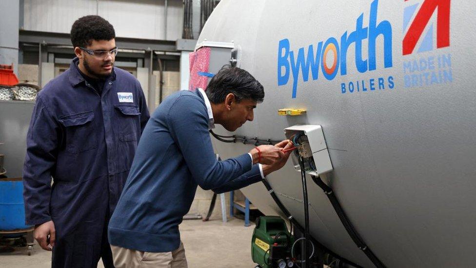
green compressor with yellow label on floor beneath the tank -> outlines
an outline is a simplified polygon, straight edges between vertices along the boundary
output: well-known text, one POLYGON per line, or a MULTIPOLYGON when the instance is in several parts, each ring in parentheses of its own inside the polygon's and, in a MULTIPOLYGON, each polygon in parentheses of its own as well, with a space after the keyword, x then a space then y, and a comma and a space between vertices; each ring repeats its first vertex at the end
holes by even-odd
POLYGON ((294 267, 296 260, 291 252, 294 242, 294 236, 281 217, 259 217, 251 242, 252 259, 259 268, 294 267))

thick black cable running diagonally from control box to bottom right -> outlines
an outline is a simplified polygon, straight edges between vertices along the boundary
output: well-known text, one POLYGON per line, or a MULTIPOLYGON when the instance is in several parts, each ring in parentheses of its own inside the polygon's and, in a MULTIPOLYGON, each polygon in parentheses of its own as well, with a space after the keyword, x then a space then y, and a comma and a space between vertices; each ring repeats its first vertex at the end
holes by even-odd
POLYGON ((357 247, 362 250, 365 255, 372 261, 372 263, 377 267, 377 268, 385 268, 385 265, 377 258, 377 256, 372 252, 372 250, 365 244, 365 242, 362 240, 362 238, 358 235, 355 227, 352 225, 350 222, 349 218, 347 218, 347 215, 345 214, 344 210, 342 209, 342 206, 340 206, 339 201, 337 200, 336 195, 332 191, 332 188, 326 185, 320 177, 316 177, 311 175, 311 178, 313 181, 319 186, 324 193, 327 195, 327 198, 331 202, 332 206, 334 207, 334 210, 336 210, 337 216, 340 219, 340 222, 342 222, 342 225, 344 226, 345 230, 349 234, 349 236, 352 238, 354 243, 357 245, 357 247))

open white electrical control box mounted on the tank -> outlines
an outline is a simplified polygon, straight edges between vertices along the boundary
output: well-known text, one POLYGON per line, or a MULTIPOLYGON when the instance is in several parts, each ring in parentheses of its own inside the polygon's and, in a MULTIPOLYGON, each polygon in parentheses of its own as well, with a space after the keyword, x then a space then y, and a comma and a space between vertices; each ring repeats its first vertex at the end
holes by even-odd
POLYGON ((291 154, 296 170, 301 170, 299 157, 302 157, 302 165, 311 175, 318 176, 332 171, 331 158, 320 125, 294 125, 285 128, 284 135, 297 147, 291 154))

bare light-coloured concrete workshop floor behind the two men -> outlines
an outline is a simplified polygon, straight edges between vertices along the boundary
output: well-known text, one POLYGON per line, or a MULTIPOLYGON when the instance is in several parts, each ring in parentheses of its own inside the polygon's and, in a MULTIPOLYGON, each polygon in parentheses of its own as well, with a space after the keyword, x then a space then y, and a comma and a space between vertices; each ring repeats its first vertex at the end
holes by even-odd
MULTIPOLYGON (((251 260, 251 236, 254 224, 244 227, 244 221, 230 219, 202 222, 187 220, 180 225, 180 234, 190 268, 254 268, 251 260)), ((0 253, 0 268, 50 268, 51 252, 35 245, 31 256, 25 247, 12 253, 0 253)), ((99 261, 99 268, 103 268, 99 261)))

